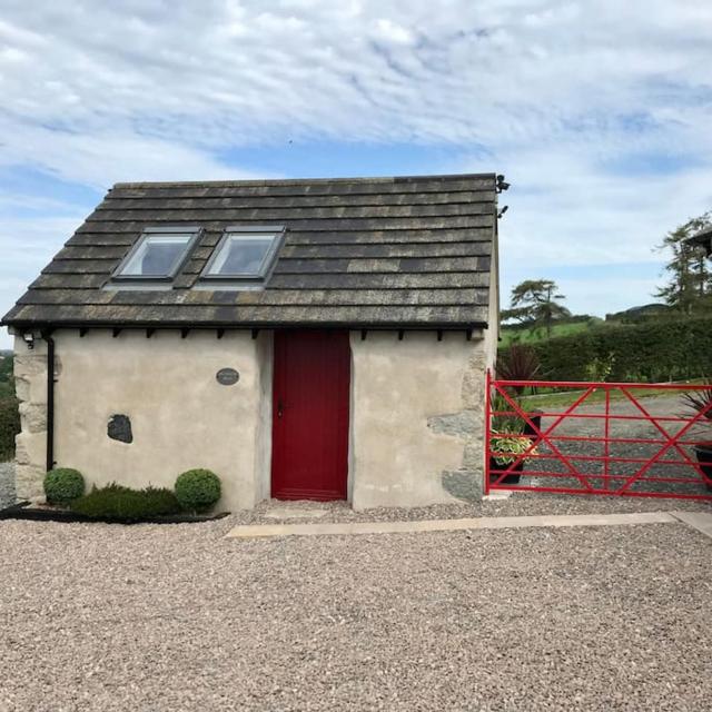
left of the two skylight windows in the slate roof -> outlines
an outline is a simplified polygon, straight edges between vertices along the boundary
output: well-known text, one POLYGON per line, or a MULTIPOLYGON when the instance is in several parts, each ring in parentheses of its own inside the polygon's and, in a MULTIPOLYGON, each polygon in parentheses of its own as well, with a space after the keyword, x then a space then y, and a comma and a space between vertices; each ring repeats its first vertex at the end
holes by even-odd
POLYGON ((115 279, 172 279, 197 238, 197 227, 146 228, 115 274, 115 279))

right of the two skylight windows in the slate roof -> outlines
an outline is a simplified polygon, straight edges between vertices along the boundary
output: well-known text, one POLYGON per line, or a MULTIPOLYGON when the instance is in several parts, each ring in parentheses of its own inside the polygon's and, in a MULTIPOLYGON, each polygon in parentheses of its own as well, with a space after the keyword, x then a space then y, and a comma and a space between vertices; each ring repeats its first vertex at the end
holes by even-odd
POLYGON ((228 227, 210 257, 207 279, 265 279, 281 243, 284 227, 228 227))

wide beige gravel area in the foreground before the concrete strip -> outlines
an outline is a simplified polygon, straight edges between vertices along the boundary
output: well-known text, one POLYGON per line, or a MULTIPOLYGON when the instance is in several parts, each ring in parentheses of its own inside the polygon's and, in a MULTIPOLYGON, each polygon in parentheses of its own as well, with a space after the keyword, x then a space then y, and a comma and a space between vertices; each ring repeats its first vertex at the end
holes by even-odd
POLYGON ((234 523, 0 522, 0 710, 709 710, 712 546, 682 524, 234 523))

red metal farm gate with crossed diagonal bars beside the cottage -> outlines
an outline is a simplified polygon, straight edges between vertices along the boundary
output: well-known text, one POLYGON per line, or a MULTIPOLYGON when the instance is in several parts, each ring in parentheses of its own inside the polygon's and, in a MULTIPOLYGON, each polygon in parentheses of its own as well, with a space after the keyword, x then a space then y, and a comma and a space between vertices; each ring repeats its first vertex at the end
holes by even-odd
POLYGON ((485 493, 712 501, 710 390, 686 384, 497 380, 487 374, 485 493), (702 406, 690 407, 685 393, 696 393, 702 406), (700 464, 695 448, 705 445, 700 464))

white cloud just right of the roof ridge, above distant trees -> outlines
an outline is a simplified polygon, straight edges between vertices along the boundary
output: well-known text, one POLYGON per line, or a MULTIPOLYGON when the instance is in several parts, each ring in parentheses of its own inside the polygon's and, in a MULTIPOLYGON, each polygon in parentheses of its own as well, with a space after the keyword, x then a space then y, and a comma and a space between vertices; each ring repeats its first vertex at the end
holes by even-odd
MULTIPOLYGON (((615 146, 542 146, 494 156, 512 179, 501 205, 503 263, 548 266, 660 263, 653 246, 671 228, 712 207, 712 165, 663 174, 611 175, 600 154, 615 146)), ((477 160, 463 168, 474 170, 477 160)))

